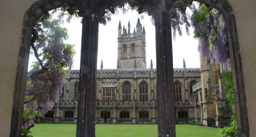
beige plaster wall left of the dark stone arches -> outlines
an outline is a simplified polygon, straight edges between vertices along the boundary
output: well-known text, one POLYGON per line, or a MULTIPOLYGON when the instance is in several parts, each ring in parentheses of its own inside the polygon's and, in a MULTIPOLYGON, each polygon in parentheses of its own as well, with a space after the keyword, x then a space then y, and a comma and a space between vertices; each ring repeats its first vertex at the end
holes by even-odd
POLYGON ((0 1, 0 133, 10 133, 13 92, 25 11, 36 0, 0 1))

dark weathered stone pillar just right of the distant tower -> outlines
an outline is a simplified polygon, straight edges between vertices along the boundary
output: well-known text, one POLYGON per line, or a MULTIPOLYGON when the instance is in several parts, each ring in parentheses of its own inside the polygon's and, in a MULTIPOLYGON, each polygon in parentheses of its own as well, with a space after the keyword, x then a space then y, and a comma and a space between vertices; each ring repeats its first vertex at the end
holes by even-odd
POLYGON ((159 9, 155 21, 158 136, 175 137, 171 18, 159 9))

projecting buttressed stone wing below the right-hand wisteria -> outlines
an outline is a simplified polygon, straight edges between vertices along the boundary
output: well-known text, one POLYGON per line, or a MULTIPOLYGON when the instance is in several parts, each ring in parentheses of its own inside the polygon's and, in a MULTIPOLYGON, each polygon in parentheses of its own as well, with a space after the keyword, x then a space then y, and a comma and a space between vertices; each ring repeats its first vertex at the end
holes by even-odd
POLYGON ((232 121, 232 110, 226 98, 225 83, 221 82, 227 70, 215 61, 202 59, 201 53, 200 64, 201 81, 190 87, 190 119, 202 121, 205 126, 227 126, 232 121))

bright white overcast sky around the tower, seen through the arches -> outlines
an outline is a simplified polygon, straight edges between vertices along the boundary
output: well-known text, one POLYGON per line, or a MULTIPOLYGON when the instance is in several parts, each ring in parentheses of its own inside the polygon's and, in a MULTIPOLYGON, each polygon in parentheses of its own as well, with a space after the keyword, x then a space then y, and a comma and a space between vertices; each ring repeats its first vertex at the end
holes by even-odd
MULTIPOLYGON (((107 25, 99 25, 99 42, 98 42, 98 58, 97 68, 100 69, 100 62, 103 60, 103 69, 116 68, 117 63, 117 37, 118 25, 127 28, 128 21, 130 20, 131 33, 136 30, 137 19, 140 15, 136 11, 129 11, 126 14, 119 12, 118 15, 112 15, 111 21, 107 25)), ((64 27, 68 29, 69 44, 75 44, 76 55, 72 69, 80 69, 80 51, 81 51, 81 18, 72 19, 70 23, 66 23, 64 27)), ((146 61, 147 68, 150 68, 150 60, 153 61, 153 68, 156 68, 156 42, 155 42, 155 26, 152 25, 150 17, 144 15, 144 19, 140 19, 142 27, 145 27, 146 32, 146 61)), ((198 52, 198 40, 193 38, 193 29, 190 28, 190 36, 187 36, 185 27, 183 29, 183 36, 180 37, 176 34, 176 40, 172 40, 173 46, 173 67, 183 68, 183 58, 186 62, 186 68, 200 68, 200 58, 198 52)), ((127 29, 128 30, 128 29, 127 29)), ((30 59, 31 62, 35 61, 30 59)))

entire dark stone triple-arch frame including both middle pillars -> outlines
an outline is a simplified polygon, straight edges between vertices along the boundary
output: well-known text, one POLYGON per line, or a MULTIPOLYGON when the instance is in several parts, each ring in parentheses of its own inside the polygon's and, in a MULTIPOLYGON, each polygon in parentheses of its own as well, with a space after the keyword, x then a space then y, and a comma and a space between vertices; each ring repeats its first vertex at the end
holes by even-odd
MULTIPOLYGON (((196 0, 199 1, 199 0, 196 0)), ((36 20, 42 15, 47 14, 51 9, 57 7, 70 7, 72 11, 79 10, 79 16, 83 17, 82 28, 82 46, 81 46, 81 68, 80 68, 80 103, 77 117, 77 136, 95 136, 95 102, 96 102, 96 62, 97 62, 97 41, 98 24, 100 17, 104 15, 105 9, 111 9, 116 5, 122 5, 124 0, 110 1, 77 1, 77 0, 41 0, 35 2, 25 13, 23 38, 19 51, 19 62, 15 81, 11 132, 10 136, 19 136, 22 124, 22 112, 24 104, 24 93, 26 74, 28 70, 28 58, 30 42, 32 37, 32 28, 36 20), (92 58, 91 60, 88 58, 92 58), (89 85, 89 86, 88 86, 89 85), (82 91, 82 92, 81 92, 82 91), (85 92, 88 91, 88 92, 85 92), (83 109, 83 108, 88 109, 83 109), (85 122, 82 122, 85 121, 85 122), (93 126, 92 126, 93 125, 93 126), (84 129, 84 130, 83 130, 84 129)), ((173 65, 172 65, 172 44, 171 44, 171 15, 175 13, 175 8, 183 11, 186 4, 192 0, 128 0, 132 5, 140 5, 141 8, 150 9, 149 15, 152 15, 156 21, 156 56, 157 56, 157 98, 158 102, 159 136, 175 136, 175 110, 173 107, 173 65), (169 46, 166 46, 169 45, 169 46), (161 112, 161 113, 159 113, 161 112), (168 119, 167 119, 168 118, 168 119), (171 128, 170 128, 171 127, 171 128)), ((226 0, 200 0, 206 3, 209 8, 218 9, 224 16, 228 26, 228 40, 231 49, 232 70, 234 79, 234 90, 236 99, 236 114, 238 122, 238 135, 249 136, 247 107, 245 97, 245 87, 243 81, 243 68, 241 55, 239 53, 239 44, 235 17, 230 4, 226 0), (239 91, 239 92, 238 92, 239 91), (243 116, 243 117, 242 117, 243 116)))

